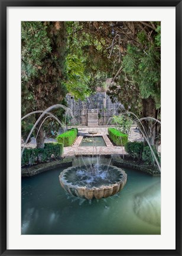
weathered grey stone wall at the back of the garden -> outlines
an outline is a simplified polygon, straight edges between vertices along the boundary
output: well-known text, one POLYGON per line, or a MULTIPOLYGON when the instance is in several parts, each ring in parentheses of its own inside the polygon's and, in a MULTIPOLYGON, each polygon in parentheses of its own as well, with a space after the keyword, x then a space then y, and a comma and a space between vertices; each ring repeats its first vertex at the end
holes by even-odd
POLYGON ((89 109, 98 109, 98 124, 106 125, 109 117, 121 113, 123 108, 123 105, 118 101, 112 103, 106 92, 97 92, 87 97, 85 101, 76 101, 74 97, 69 94, 67 94, 66 99, 68 107, 71 108, 74 118, 80 125, 88 124, 87 116, 89 109))

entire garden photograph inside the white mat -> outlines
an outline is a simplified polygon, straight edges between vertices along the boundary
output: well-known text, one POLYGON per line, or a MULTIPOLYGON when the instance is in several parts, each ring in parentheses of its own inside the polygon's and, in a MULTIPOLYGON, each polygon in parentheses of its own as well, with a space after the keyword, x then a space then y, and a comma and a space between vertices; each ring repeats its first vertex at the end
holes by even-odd
POLYGON ((21 43, 22 234, 160 234, 160 22, 23 21, 21 43))

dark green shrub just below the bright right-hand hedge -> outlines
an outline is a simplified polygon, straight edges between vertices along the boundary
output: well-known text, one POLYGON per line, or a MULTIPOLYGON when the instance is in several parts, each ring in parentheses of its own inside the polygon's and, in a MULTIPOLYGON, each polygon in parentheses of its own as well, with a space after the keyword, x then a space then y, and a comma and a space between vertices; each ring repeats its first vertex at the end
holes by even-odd
POLYGON ((132 156, 134 159, 142 158, 142 151, 144 149, 143 142, 127 142, 125 144, 125 151, 129 156, 132 156))

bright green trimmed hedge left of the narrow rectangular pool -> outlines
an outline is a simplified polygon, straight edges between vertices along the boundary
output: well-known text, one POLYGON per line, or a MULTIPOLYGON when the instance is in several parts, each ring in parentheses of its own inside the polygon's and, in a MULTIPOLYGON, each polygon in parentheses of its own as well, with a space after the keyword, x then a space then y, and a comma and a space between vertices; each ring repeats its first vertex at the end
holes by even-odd
POLYGON ((61 135, 57 136, 57 142, 63 143, 64 146, 71 146, 74 143, 74 140, 77 137, 77 128, 72 128, 67 132, 62 133, 61 135))

